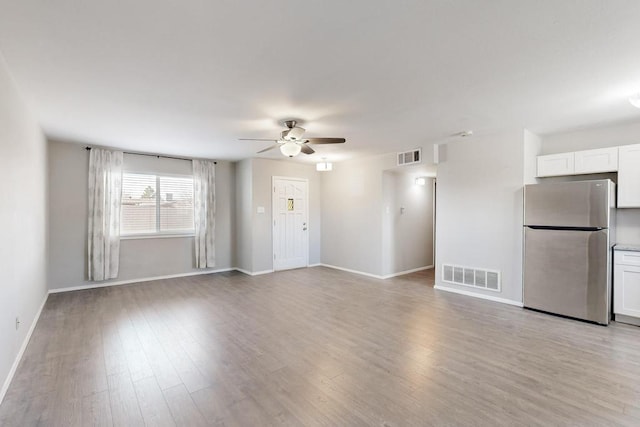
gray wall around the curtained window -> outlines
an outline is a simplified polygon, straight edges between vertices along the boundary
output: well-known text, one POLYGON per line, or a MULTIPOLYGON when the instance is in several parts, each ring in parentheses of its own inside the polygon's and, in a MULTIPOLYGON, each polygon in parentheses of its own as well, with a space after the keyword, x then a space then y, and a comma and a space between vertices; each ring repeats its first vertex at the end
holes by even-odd
MULTIPOLYGON (((184 169, 184 165, 172 164, 167 159, 135 157, 137 159, 125 159, 125 167, 127 163, 149 162, 150 168, 184 169)), ((49 142, 50 289, 92 284, 86 280, 88 159, 88 151, 80 145, 49 142)), ((216 166, 216 267, 211 270, 235 266, 234 190, 235 165, 219 161, 216 166)), ((123 239, 120 273, 112 281, 198 271, 201 270, 194 268, 193 237, 123 239)))

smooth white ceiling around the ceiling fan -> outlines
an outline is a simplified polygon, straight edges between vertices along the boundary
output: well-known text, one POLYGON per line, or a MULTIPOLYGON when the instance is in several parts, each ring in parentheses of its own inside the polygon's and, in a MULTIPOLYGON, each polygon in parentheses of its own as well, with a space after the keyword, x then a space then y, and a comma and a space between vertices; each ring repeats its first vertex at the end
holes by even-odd
POLYGON ((0 0, 0 51, 52 137, 240 159, 295 117, 347 138, 299 157, 339 161, 640 119, 639 22, 637 0, 0 0))

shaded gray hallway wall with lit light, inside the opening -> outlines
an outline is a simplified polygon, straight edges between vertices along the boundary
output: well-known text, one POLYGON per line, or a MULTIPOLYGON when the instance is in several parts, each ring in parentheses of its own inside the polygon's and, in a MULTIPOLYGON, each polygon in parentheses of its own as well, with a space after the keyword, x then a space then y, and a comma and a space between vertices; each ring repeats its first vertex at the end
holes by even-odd
POLYGON ((383 173, 384 276, 433 266, 433 178, 420 186, 415 183, 418 176, 423 175, 383 173))

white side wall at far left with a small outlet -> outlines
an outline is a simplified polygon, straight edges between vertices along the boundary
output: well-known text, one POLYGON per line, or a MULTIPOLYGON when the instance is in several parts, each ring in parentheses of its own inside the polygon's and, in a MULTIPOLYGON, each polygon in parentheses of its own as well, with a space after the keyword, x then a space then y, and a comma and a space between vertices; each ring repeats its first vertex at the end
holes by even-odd
POLYGON ((46 174, 44 136, 0 56, 0 401, 47 295, 46 174))

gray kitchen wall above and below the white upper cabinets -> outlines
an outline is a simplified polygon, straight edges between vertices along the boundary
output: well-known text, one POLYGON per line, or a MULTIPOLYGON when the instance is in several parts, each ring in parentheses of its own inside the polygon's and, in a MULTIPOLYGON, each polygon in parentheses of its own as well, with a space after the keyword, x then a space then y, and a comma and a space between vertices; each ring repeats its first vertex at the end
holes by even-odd
MULTIPOLYGON (((590 150, 640 144, 640 122, 623 123, 574 132, 563 132, 542 138, 542 153, 555 154, 567 151, 590 150)), ((617 174, 604 174, 591 178, 617 179, 617 174)), ((571 179, 586 179, 584 175, 571 179)), ((640 244, 640 209, 618 209, 616 212, 616 241, 640 244)))

